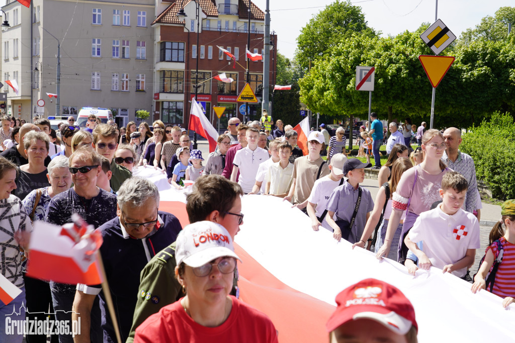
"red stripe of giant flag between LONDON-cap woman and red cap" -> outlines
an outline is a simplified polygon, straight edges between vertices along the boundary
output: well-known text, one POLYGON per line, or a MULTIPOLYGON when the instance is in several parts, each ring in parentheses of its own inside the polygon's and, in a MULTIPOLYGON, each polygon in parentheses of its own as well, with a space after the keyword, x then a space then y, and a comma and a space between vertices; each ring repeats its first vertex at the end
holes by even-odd
POLYGON ((329 340, 325 323, 335 306, 285 285, 237 244, 234 250, 243 261, 238 263, 239 299, 270 317, 280 342, 329 340))

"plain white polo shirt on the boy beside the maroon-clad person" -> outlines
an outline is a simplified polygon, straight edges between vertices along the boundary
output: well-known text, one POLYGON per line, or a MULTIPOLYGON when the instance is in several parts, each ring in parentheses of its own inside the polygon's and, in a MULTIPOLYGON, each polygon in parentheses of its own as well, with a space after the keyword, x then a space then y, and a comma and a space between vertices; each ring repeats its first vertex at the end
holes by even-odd
POLYGON ((239 168, 238 184, 242 186, 244 193, 250 193, 258 175, 259 165, 269 159, 268 151, 256 147, 254 151, 249 147, 236 151, 232 164, 239 168))

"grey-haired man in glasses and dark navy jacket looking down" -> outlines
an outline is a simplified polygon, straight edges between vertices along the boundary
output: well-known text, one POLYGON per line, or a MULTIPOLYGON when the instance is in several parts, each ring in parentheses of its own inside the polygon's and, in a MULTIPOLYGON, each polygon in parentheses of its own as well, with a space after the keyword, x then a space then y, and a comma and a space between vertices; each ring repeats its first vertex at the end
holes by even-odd
MULTIPOLYGON (((141 270, 159 251, 175 242, 182 230, 177 217, 159 211, 158 207, 157 186, 147 179, 131 178, 118 190, 116 217, 98 228, 104 239, 100 254, 123 342, 132 326, 141 270)), ((104 342, 116 341, 101 285, 79 284, 72 314, 74 320, 80 317, 81 323, 81 334, 75 337, 76 343, 90 342, 90 312, 97 295, 102 307, 104 342)))

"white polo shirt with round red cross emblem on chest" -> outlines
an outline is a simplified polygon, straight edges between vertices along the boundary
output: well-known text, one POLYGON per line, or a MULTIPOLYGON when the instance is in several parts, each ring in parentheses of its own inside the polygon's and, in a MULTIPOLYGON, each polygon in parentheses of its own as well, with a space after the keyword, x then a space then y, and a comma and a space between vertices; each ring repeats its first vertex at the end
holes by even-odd
MULTIPOLYGON (((442 204, 436 209, 422 212, 409 231, 412 242, 423 243, 423 252, 434 267, 443 269, 445 265, 453 264, 465 257, 467 249, 480 248, 479 222, 469 212, 459 209, 455 214, 448 215, 441 210, 442 204)), ((452 272, 458 278, 467 273, 467 268, 452 272)))

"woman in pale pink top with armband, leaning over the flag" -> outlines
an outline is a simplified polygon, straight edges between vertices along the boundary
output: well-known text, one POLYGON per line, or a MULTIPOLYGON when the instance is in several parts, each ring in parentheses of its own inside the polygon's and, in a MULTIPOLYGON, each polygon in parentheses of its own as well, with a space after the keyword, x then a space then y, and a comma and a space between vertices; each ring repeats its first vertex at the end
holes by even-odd
POLYGON ((443 136, 438 130, 427 130, 422 136, 422 151, 424 161, 415 168, 407 170, 401 177, 397 190, 393 193, 392 208, 384 244, 375 255, 377 259, 388 256, 393 234, 399 226, 402 212, 407 210, 402 226, 399 246, 399 262, 406 259, 407 247, 404 236, 415 224, 418 216, 431 209, 431 205, 440 200, 440 185, 442 178, 450 169, 441 158, 445 151, 443 136))

